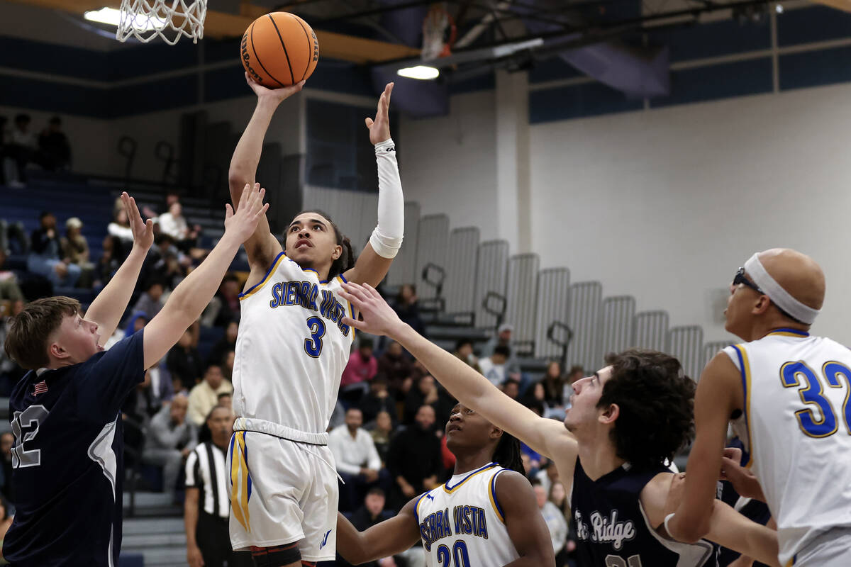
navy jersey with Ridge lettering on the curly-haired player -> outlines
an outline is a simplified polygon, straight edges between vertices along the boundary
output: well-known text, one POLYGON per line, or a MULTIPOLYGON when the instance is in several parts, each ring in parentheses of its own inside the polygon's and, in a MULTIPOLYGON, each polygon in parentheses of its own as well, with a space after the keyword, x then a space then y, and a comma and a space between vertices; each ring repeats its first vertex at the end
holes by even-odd
MULTIPOLYGON (((708 541, 667 540, 649 524, 639 500, 644 486, 668 468, 635 470, 628 465, 588 478, 576 459, 570 508, 580 565, 588 567, 710 567, 717 564, 708 541)), ((658 527, 658 526, 655 526, 658 527)))

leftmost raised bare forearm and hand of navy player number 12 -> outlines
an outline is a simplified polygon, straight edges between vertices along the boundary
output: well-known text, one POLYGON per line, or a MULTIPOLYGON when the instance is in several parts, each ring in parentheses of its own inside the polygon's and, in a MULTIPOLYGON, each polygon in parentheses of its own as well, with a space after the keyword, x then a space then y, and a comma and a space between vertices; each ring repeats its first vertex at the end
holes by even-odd
POLYGON ((142 264, 154 241, 153 221, 150 218, 147 222, 142 220, 135 199, 125 191, 121 194, 121 201, 127 211, 130 230, 133 231, 133 249, 86 312, 86 319, 98 324, 100 346, 106 344, 121 321, 124 309, 127 309, 130 296, 133 295, 136 280, 139 279, 142 264))

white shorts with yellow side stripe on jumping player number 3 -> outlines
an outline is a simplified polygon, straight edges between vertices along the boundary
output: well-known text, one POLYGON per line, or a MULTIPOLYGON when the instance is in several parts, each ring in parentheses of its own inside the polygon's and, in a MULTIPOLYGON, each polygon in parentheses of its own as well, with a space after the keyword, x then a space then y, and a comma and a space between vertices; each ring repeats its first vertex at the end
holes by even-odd
POLYGON ((237 431, 227 471, 235 551, 298 541, 305 561, 334 559, 339 494, 328 445, 237 431))

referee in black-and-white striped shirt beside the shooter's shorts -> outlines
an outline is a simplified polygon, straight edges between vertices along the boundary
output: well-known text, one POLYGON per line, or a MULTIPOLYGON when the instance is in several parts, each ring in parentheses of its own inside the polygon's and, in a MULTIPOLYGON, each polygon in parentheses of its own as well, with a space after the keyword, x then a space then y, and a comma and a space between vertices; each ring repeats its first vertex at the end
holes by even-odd
POLYGON ((252 567, 251 554, 231 549, 228 515, 226 451, 231 439, 233 413, 217 405, 207 416, 212 439, 203 442, 186 459, 186 560, 190 567, 252 567))

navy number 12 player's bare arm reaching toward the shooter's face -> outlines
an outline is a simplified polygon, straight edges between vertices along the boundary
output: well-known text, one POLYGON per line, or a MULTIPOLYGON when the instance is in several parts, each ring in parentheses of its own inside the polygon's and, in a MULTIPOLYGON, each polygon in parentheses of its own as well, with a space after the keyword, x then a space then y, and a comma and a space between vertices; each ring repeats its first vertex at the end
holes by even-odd
POLYGON ((145 327, 146 369, 165 356, 207 307, 240 245, 266 216, 269 206, 263 204, 265 195, 266 190, 246 187, 236 213, 226 205, 225 235, 201 265, 174 288, 163 309, 145 327))

